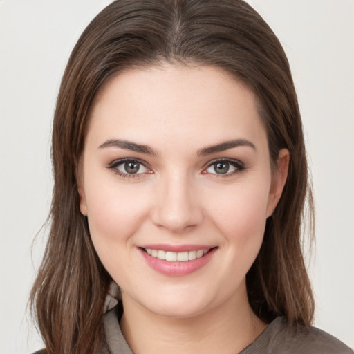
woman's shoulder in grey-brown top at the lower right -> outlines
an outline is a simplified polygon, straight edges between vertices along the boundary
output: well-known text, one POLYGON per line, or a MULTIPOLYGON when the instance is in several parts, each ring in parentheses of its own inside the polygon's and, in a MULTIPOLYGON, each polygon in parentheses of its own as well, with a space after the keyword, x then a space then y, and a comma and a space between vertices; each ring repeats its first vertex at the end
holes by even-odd
POLYGON ((240 354, 354 354, 339 339, 311 326, 289 326, 278 317, 240 354))

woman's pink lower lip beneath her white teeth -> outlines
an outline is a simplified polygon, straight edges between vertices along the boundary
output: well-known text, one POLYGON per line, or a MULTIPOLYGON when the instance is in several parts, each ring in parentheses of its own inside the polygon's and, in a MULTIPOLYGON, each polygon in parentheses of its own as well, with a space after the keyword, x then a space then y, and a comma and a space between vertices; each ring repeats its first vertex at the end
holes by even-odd
POLYGON ((168 275, 169 277, 183 277, 196 272, 196 270, 201 269, 204 265, 206 265, 212 259, 216 248, 213 248, 201 258, 196 258, 193 261, 185 262, 165 261, 164 259, 149 256, 149 254, 147 254, 144 250, 139 250, 145 258, 145 261, 147 261, 147 264, 153 270, 156 270, 161 274, 168 275))

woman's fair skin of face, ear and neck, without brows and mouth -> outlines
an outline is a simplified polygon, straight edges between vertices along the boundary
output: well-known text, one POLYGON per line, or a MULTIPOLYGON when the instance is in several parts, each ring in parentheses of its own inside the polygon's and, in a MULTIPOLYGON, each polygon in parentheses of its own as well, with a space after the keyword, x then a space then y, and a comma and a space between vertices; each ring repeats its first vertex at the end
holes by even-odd
POLYGON ((271 171, 256 97, 221 69, 132 69, 102 88, 80 163, 81 212, 120 285, 120 324, 134 353, 238 353, 264 330, 248 304, 245 274, 281 196, 288 158, 281 150, 271 171), (253 147, 198 155, 235 139, 253 147), (147 145, 156 156, 102 147, 109 140, 147 145), (124 158, 143 163, 138 174, 121 175, 124 158), (217 174, 220 160, 237 165, 217 174), (141 245, 157 243, 216 250, 201 269, 174 277, 142 257, 141 245))

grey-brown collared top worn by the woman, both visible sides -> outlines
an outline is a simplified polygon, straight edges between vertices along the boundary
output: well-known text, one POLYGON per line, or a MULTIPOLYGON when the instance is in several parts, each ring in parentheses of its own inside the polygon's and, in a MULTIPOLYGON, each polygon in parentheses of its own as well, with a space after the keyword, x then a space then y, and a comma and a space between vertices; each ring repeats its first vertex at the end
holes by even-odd
MULTIPOLYGON (((133 354, 120 330, 116 308, 104 315, 105 348, 100 354, 133 354)), ((288 326, 277 317, 239 354, 353 354, 338 339, 315 327, 288 326)))

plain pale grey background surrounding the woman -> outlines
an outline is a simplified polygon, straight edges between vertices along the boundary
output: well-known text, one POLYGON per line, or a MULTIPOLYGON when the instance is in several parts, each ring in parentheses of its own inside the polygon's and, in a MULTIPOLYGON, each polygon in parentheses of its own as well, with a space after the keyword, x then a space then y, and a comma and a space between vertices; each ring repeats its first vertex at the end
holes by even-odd
MULTIPOLYGON (((0 0, 0 353, 41 348, 26 302, 46 232, 50 124, 68 55, 108 0, 0 0)), ((249 1, 292 66, 317 209, 315 325, 354 347, 354 1, 249 1)))

